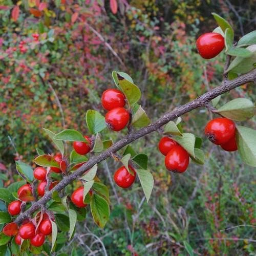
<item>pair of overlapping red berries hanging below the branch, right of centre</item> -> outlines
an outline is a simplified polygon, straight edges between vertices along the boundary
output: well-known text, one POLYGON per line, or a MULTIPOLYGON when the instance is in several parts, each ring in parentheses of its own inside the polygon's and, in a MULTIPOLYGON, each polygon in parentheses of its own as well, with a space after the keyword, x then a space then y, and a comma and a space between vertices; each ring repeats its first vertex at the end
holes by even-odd
POLYGON ((175 140, 163 137, 158 144, 159 151, 165 156, 165 166, 174 173, 184 173, 189 163, 189 155, 175 140))

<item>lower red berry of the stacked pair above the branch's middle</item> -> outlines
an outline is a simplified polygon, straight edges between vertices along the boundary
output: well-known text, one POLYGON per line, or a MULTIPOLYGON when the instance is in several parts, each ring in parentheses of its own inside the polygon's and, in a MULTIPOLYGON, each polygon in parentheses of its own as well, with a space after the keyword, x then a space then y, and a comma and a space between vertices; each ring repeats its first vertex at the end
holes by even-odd
POLYGON ((129 122, 130 114, 124 108, 115 108, 105 116, 105 122, 108 124, 111 130, 118 132, 124 129, 129 122))

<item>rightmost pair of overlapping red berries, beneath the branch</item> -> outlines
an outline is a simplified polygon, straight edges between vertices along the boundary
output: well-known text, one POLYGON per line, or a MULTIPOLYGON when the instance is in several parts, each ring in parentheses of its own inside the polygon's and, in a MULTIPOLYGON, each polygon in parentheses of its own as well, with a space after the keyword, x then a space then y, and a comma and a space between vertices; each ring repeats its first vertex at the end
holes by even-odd
POLYGON ((225 117, 212 119, 205 126, 205 135, 214 144, 225 151, 237 151, 236 124, 225 117))

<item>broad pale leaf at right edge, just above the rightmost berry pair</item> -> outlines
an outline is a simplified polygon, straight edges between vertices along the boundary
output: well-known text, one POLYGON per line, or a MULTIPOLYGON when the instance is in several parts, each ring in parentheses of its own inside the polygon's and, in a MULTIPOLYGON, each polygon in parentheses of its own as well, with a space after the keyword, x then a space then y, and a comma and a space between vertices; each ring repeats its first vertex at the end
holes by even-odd
POLYGON ((253 117, 255 107, 249 99, 237 98, 227 102, 215 112, 235 121, 244 121, 253 117))

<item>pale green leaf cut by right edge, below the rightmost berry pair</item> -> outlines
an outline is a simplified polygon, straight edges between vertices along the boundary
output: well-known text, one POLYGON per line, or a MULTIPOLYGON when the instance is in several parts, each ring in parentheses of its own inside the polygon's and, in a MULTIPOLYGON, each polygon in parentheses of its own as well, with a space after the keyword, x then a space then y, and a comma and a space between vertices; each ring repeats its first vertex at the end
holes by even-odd
POLYGON ((246 164, 256 167, 256 130, 238 125, 236 141, 242 160, 246 164))

